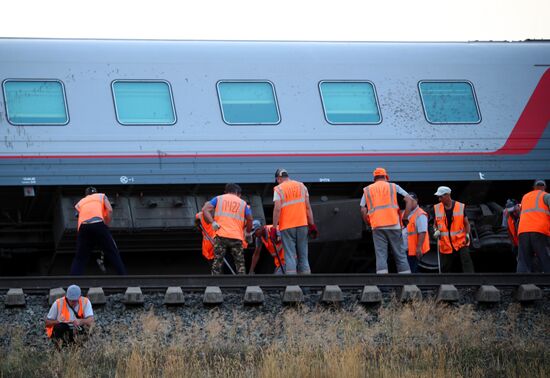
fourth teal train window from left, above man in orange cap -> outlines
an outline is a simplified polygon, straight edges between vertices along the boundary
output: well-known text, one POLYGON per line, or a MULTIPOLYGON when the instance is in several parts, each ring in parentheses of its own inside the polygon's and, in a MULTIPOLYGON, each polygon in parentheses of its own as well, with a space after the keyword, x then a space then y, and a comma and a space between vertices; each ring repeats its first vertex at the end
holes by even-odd
POLYGON ((319 83, 325 119, 333 125, 382 122, 374 85, 369 81, 319 83))

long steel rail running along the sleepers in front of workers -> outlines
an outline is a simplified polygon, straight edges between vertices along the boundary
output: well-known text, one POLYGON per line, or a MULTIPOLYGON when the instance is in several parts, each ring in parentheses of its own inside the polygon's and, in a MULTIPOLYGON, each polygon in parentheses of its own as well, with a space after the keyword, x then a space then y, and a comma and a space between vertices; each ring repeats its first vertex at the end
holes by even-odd
POLYGON ((124 290, 139 286, 145 290, 158 290, 169 286, 179 286, 188 290, 204 289, 207 286, 221 288, 244 288, 261 286, 263 288, 281 288, 287 285, 303 287, 323 287, 339 285, 341 287, 363 287, 377 285, 397 287, 417 285, 419 287, 437 287, 443 284, 455 286, 519 286, 534 284, 550 287, 550 274, 311 274, 311 275, 178 275, 178 276, 35 276, 0 277, 0 292, 10 288, 22 288, 29 291, 67 287, 78 284, 82 288, 102 287, 104 290, 124 290))

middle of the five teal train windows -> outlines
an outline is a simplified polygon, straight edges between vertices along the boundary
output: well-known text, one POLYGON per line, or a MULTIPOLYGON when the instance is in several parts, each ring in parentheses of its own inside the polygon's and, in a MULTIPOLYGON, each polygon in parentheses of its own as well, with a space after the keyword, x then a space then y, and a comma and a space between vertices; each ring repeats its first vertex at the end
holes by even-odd
POLYGON ((218 99, 228 125, 276 125, 281 122, 277 97, 269 81, 219 81, 218 99))

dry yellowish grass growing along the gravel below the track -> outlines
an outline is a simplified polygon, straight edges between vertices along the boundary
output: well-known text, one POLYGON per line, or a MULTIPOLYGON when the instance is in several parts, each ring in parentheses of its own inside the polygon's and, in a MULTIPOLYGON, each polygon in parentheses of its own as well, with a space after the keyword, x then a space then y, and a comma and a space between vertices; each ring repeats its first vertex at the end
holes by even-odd
MULTIPOLYGON (((184 325, 150 311, 107 340, 56 352, 0 350, 0 375, 41 377, 548 377, 549 315, 477 312, 428 301, 376 310, 288 309, 255 317, 212 310, 184 325), (533 318, 536 321, 533 321, 533 318)), ((106 331, 104 331, 106 332, 106 331)))

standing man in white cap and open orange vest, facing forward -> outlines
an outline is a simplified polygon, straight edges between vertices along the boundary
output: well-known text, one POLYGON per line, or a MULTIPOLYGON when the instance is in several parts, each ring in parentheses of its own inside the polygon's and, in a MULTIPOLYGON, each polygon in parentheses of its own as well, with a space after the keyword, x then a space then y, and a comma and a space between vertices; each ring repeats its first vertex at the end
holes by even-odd
POLYGON ((470 256, 470 222, 463 203, 451 198, 451 188, 440 186, 434 193, 439 199, 434 205, 434 237, 438 240, 441 272, 474 273, 470 256))

